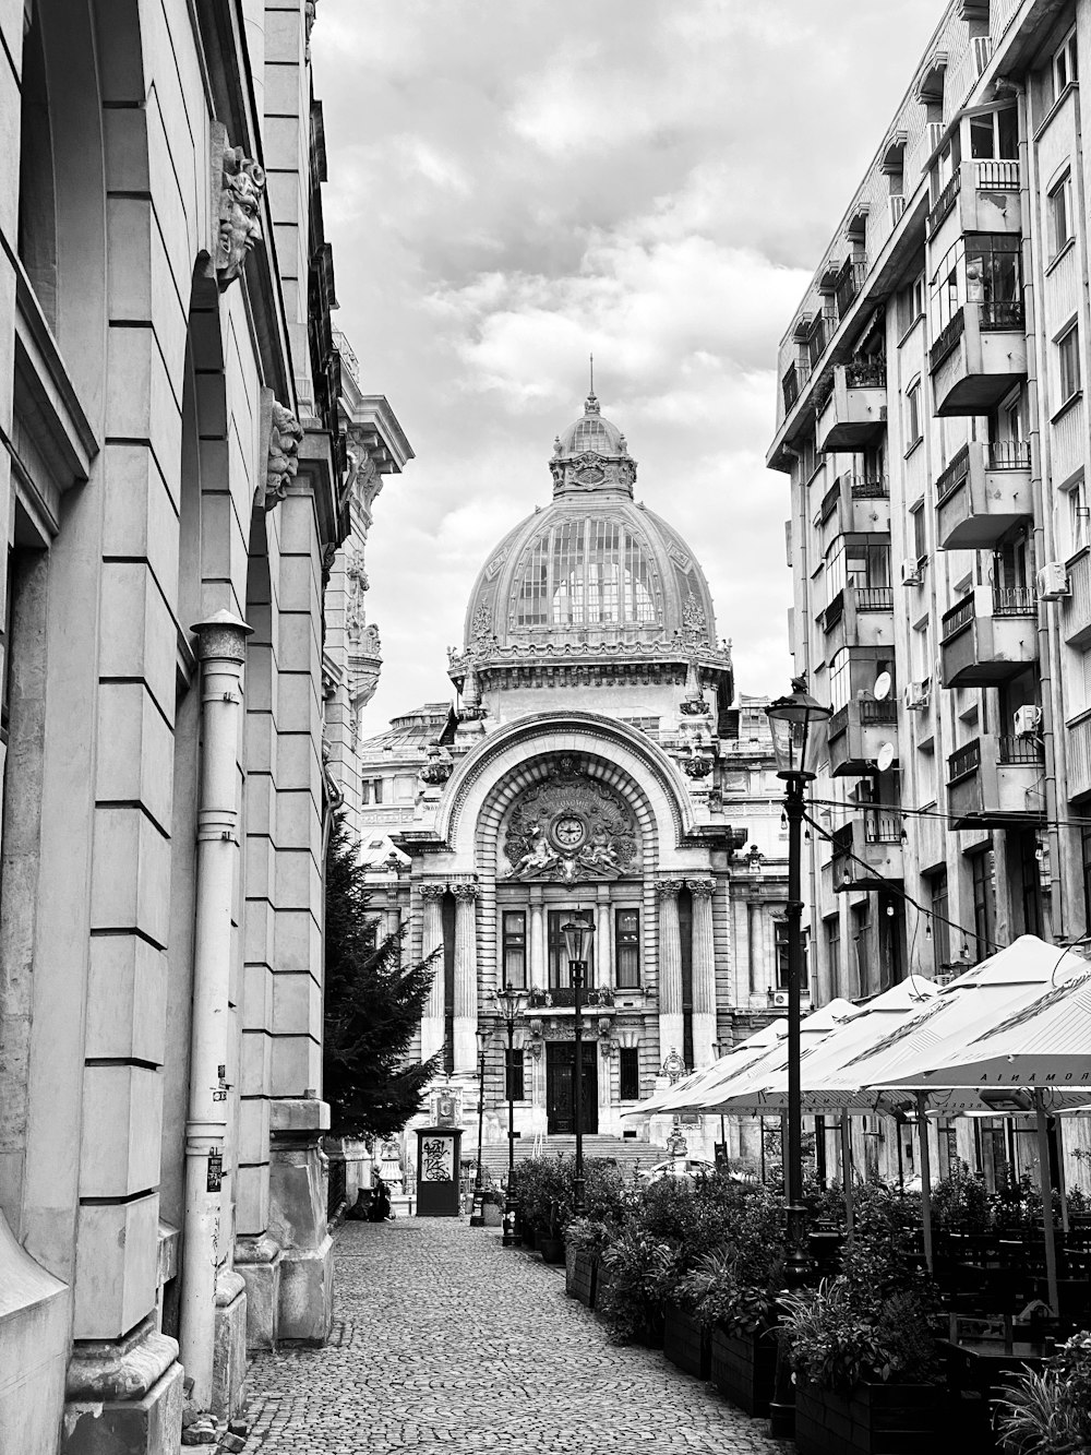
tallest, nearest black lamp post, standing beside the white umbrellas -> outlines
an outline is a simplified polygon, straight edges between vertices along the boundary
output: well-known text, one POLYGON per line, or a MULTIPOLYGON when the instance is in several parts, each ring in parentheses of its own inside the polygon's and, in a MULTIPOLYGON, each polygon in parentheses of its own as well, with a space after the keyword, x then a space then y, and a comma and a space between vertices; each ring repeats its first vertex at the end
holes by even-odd
POLYGON ((784 810, 788 819, 788 1138, 784 1158, 784 1190, 788 1215, 788 1285, 799 1288, 807 1275, 807 1225, 803 1206, 803 1099, 800 1094, 800 994, 803 981, 803 892, 802 826, 803 784, 818 773, 826 742, 831 710, 807 693, 804 677, 791 682, 791 694, 767 707, 772 729, 777 777, 784 778, 784 810))

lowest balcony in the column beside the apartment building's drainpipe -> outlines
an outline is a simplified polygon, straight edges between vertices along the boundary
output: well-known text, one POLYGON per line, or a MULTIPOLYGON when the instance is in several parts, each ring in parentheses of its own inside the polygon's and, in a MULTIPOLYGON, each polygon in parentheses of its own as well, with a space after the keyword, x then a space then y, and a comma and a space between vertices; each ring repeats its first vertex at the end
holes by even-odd
POLYGON ((1037 738, 985 733, 947 758, 951 828, 1015 828, 1037 822, 1046 803, 1037 738))

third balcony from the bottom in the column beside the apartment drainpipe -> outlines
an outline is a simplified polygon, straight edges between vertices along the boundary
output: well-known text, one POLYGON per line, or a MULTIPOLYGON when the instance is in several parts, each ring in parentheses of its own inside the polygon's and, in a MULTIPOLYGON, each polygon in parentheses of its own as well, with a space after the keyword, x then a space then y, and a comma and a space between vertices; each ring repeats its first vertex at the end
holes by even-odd
POLYGON ((1030 444, 976 439, 964 445, 935 482, 937 531, 943 550, 989 550, 1031 519, 1030 444))

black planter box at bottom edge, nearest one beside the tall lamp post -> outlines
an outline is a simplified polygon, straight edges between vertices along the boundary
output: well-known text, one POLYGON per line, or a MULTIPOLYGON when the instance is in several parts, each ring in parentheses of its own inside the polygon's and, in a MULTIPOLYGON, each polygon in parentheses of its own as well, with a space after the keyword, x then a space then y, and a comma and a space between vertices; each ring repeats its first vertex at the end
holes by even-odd
POLYGON ((940 1403, 931 1384, 858 1384, 841 1394, 797 1378, 797 1455, 927 1455, 940 1403))

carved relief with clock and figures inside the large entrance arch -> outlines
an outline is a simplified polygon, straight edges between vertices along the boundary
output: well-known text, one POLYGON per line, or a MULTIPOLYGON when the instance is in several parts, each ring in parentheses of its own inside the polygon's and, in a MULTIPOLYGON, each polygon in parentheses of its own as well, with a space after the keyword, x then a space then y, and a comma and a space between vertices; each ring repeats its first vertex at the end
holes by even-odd
POLYGON ((637 857, 636 821, 612 789, 563 757, 550 777, 516 800, 503 851, 512 866, 506 879, 564 885, 618 879, 637 857))

